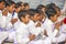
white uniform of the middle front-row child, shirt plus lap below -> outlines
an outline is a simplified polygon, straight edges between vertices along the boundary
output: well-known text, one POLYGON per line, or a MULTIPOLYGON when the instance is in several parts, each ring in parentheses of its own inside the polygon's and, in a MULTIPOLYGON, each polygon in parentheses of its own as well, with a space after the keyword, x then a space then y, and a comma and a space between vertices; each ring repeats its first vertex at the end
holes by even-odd
POLYGON ((29 26, 29 32, 31 34, 34 34, 36 36, 35 40, 31 41, 29 44, 51 44, 50 38, 43 38, 42 36, 40 37, 40 35, 43 32, 43 28, 36 28, 36 23, 34 23, 32 20, 30 20, 28 26, 29 26))

